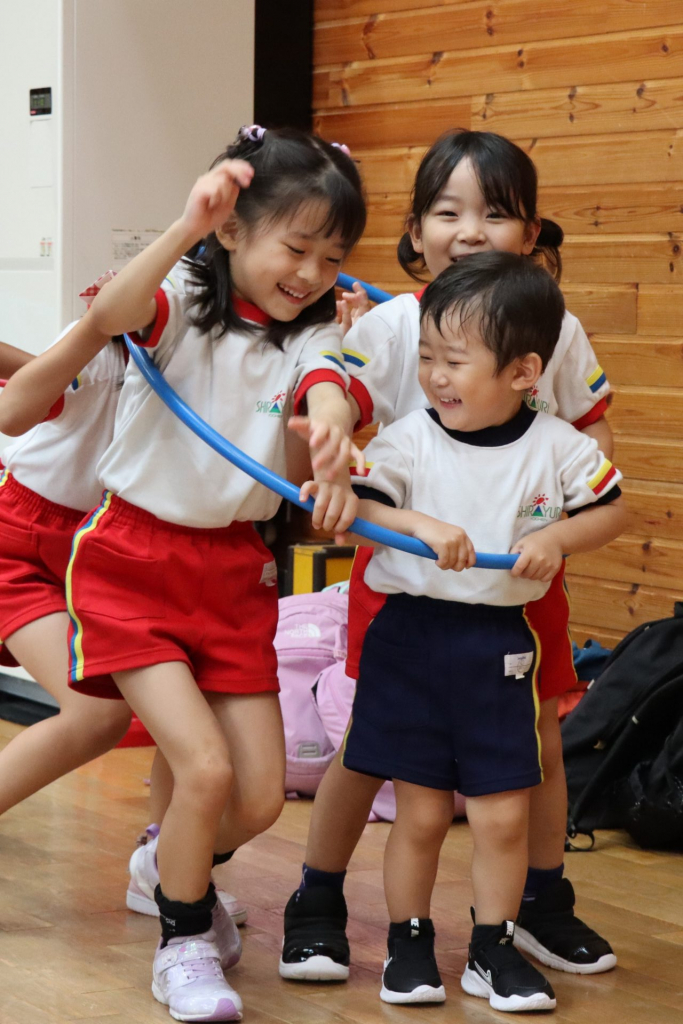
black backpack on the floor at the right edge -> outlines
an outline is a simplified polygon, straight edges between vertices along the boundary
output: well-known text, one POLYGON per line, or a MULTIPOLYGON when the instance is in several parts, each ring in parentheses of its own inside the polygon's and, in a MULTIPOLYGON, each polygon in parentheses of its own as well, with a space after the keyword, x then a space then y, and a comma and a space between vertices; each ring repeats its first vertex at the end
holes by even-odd
POLYGON ((562 725, 569 849, 594 828, 683 850, 683 602, 614 648, 562 725))

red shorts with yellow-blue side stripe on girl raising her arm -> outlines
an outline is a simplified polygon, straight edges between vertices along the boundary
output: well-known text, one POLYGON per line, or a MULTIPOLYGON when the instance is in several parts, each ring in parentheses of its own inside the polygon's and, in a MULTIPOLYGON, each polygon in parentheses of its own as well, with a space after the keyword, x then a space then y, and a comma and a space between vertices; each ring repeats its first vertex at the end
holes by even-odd
POLYGON ((179 526, 105 490, 67 573, 70 686, 120 697, 109 673, 184 662, 202 690, 276 692, 274 580, 252 523, 179 526))

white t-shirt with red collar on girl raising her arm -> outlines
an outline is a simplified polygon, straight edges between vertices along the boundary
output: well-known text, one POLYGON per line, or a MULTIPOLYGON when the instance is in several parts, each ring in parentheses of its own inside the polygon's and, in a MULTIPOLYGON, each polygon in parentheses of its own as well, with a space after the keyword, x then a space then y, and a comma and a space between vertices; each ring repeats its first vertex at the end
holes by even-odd
MULTIPOLYGON (((257 462, 284 475, 285 430, 305 391, 333 381, 346 388, 337 324, 290 336, 283 351, 261 332, 190 324, 195 289, 181 260, 157 293, 157 318, 145 347, 165 379, 204 420, 257 462)), ((245 319, 263 314, 239 307, 245 319)), ((119 399, 114 440, 97 467, 104 487, 160 519, 195 527, 268 519, 278 495, 231 466, 159 398, 131 359, 119 399)))

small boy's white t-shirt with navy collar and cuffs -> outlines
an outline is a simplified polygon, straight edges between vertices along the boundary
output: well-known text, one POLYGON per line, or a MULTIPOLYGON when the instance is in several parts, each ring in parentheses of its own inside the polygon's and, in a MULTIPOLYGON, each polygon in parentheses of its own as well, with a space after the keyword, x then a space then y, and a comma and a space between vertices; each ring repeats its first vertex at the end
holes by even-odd
MULTIPOLYGON (((602 499, 622 478, 592 437, 525 406, 510 423, 471 433, 446 430, 433 410, 413 412, 385 427, 366 455, 369 475, 354 481, 361 495, 371 487, 396 508, 461 526, 476 551, 494 554, 602 499)), ((525 604, 549 586, 500 569, 439 569, 384 547, 365 579, 379 593, 467 604, 525 604)))

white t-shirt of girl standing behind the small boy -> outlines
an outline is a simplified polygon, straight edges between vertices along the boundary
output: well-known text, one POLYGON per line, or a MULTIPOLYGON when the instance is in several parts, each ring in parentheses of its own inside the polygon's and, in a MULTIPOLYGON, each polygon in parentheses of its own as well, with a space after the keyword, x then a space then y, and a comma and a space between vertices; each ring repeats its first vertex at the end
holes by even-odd
MULTIPOLYGON (((419 340, 420 303, 414 294, 375 306, 348 332, 343 352, 361 426, 386 426, 427 408, 418 383, 419 340)), ((581 428, 604 413, 608 393, 609 383, 586 332, 575 316, 565 312, 555 351, 536 386, 526 392, 527 404, 581 428)))

